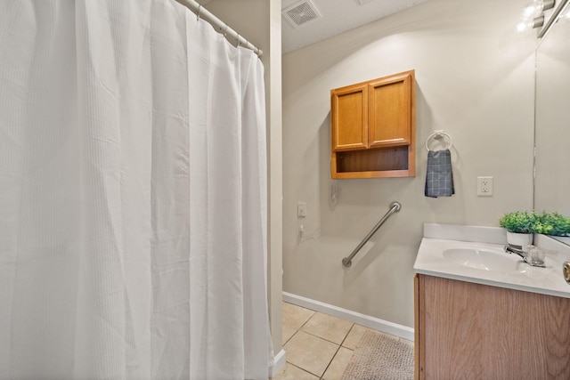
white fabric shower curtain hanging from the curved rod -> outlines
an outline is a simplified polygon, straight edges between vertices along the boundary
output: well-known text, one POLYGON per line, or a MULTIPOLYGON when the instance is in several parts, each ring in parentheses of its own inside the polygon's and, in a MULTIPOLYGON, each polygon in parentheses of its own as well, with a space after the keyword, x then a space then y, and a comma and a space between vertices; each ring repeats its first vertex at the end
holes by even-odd
POLYGON ((264 99, 174 0, 0 2, 0 378, 267 378, 264 99))

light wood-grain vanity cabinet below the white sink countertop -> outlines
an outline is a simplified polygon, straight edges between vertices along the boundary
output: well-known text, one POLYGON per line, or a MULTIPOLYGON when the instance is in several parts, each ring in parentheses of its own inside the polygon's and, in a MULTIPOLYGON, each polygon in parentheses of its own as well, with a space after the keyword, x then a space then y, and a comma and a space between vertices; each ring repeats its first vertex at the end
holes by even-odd
POLYGON ((416 274, 416 379, 570 379, 570 299, 416 274))

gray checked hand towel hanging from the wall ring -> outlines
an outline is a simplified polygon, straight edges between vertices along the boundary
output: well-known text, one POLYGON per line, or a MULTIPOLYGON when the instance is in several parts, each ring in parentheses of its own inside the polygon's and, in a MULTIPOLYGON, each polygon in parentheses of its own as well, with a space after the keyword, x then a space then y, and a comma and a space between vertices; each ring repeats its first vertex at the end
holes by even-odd
POLYGON ((451 197, 453 189, 452 152, 429 150, 426 173, 426 197, 451 197))

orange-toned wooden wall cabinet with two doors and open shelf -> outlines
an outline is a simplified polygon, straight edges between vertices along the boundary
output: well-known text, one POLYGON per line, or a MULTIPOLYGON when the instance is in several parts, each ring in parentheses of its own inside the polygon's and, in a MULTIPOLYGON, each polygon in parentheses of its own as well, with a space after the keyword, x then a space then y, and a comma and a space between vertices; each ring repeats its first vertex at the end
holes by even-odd
POLYGON ((330 91, 332 178, 415 176, 415 74, 330 91))

